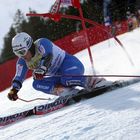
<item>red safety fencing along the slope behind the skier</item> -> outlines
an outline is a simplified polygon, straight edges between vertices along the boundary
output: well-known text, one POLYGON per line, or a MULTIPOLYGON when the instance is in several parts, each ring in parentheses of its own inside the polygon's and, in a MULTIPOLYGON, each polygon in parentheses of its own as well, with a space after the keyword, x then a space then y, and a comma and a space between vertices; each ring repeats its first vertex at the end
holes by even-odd
MULTIPOLYGON (((109 28, 105 26, 102 26, 102 28, 110 32, 109 28)), ((119 35, 125 33, 127 30, 127 22, 123 21, 119 23, 119 25, 116 24, 115 34, 119 35)), ((98 26, 88 28, 87 34, 89 37, 90 45, 94 45, 108 39, 107 33, 104 30, 101 30, 101 28, 99 28, 98 26)), ((55 43, 70 54, 75 54, 87 48, 84 31, 72 33, 68 36, 63 37, 62 39, 55 41, 55 43)), ((0 91, 11 86, 11 81, 16 70, 16 61, 17 59, 13 59, 0 65, 0 91)), ((27 77, 31 75, 32 72, 30 71, 27 77)))

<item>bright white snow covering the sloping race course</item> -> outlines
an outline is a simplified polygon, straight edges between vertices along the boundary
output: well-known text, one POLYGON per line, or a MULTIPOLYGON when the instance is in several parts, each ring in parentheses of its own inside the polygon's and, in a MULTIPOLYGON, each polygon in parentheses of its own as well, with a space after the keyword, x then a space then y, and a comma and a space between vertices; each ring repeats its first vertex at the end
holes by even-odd
MULTIPOLYGON (((139 75, 139 37, 140 28, 119 36, 134 66, 114 39, 93 46, 96 73, 139 75)), ((86 74, 91 74, 87 50, 77 53, 76 56, 84 63, 86 74)), ((114 81, 120 78, 107 79, 114 81)), ((12 102, 6 97, 8 91, 9 89, 0 94, 0 116, 46 103, 46 101, 12 102)), ((23 99, 50 97, 32 88, 32 78, 24 82, 19 96, 23 99)), ((2 127, 0 140, 138 140, 139 126, 140 83, 137 83, 81 101, 48 115, 30 117, 2 127)))

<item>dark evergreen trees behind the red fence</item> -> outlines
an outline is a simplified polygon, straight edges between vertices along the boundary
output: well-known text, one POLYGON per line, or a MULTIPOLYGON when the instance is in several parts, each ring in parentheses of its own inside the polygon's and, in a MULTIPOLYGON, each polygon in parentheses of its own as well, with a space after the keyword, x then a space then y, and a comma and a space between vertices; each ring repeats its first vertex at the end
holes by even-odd
MULTIPOLYGON (((134 7, 135 3, 132 3, 131 9, 134 9, 134 7)), ((82 4, 82 9, 85 18, 103 23, 103 0, 86 0, 82 4)), ((125 19, 126 11, 128 10, 128 0, 112 0, 110 10, 113 20, 125 19)), ((29 9, 29 12, 36 13, 36 11, 31 9, 29 9)), ((73 7, 62 7, 60 12, 69 15, 79 15, 78 10, 73 7)), ((89 24, 86 25, 87 27, 90 26, 89 24)), ((11 40, 18 32, 27 32, 34 40, 47 37, 55 41, 81 29, 80 21, 61 19, 59 22, 55 22, 51 19, 44 19, 41 17, 25 17, 21 10, 17 10, 15 18, 13 19, 13 24, 4 37, 0 63, 15 58, 11 48, 11 40)))

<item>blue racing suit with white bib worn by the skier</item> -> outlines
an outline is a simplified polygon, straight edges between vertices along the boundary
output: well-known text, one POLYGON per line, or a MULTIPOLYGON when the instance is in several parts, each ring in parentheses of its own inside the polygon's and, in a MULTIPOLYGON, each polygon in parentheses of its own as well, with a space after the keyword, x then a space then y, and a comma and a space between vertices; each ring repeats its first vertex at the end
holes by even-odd
POLYGON ((46 38, 40 38, 34 44, 35 55, 31 60, 26 61, 21 57, 16 63, 16 74, 12 82, 14 88, 19 90, 25 80, 27 71, 29 69, 34 71, 44 64, 44 60, 46 65, 49 65, 46 73, 47 76, 44 76, 42 80, 34 78, 32 84, 34 89, 51 94, 57 85, 84 87, 85 78, 83 76, 72 76, 84 74, 84 66, 79 59, 68 54, 46 38), (46 58, 49 55, 52 56, 52 59, 47 64, 46 58))

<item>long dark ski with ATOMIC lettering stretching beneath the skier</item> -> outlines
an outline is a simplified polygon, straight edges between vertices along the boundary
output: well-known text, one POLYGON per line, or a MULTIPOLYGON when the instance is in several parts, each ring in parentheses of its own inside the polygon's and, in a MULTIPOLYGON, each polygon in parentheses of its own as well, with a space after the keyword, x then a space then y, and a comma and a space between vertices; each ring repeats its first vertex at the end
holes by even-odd
POLYGON ((43 115, 43 114, 51 113, 65 106, 69 106, 77 102, 80 102, 83 99, 93 98, 95 96, 98 96, 98 95, 101 95, 106 92, 113 91, 122 87, 126 87, 137 82, 140 82, 140 79, 137 78, 137 79, 132 79, 129 81, 116 81, 116 82, 113 82, 111 85, 96 88, 91 92, 88 92, 82 89, 77 94, 71 94, 71 95, 58 97, 55 101, 51 103, 35 106, 34 108, 30 110, 26 110, 26 111, 16 113, 13 115, 0 117, 0 126, 2 127, 2 126, 17 122, 18 120, 22 120, 24 118, 27 118, 33 115, 43 115))

